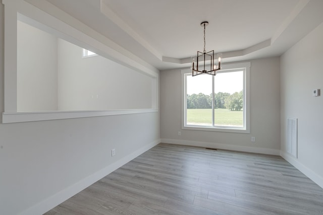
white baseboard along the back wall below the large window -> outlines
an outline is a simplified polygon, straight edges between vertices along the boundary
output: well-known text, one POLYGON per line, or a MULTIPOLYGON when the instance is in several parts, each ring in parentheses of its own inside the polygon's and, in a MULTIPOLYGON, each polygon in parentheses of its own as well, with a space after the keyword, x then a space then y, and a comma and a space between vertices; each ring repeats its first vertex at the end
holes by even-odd
POLYGON ((259 154, 266 154, 266 155, 280 155, 280 150, 274 150, 274 149, 245 147, 245 146, 228 145, 228 144, 216 144, 214 142, 198 142, 198 141, 182 140, 182 139, 162 138, 160 140, 161 142, 165 142, 166 144, 179 144, 179 145, 187 145, 187 146, 195 146, 195 147, 207 147, 207 148, 214 148, 214 149, 259 153, 259 154))

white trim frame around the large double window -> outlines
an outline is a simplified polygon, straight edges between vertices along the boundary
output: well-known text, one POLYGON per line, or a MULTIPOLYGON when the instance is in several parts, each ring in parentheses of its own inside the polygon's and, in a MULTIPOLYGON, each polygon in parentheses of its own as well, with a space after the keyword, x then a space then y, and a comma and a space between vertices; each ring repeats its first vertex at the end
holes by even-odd
MULTIPOLYGON (((191 69, 182 69, 182 129, 189 130, 203 130, 203 131, 221 131, 221 132, 235 132, 235 133, 250 133, 250 62, 223 64, 222 69, 245 69, 244 76, 244 89, 245 96, 243 100, 244 105, 244 127, 227 127, 227 126, 199 126, 199 125, 186 125, 186 75, 192 74, 191 69)), ((217 78, 217 77, 215 77, 217 78)))

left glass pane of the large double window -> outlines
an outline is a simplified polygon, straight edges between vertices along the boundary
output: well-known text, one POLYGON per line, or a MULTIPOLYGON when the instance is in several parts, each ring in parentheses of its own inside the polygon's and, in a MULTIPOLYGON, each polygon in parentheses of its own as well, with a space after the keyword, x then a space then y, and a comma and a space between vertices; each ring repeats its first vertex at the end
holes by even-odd
POLYGON ((186 76, 186 124, 212 125, 212 76, 186 76))

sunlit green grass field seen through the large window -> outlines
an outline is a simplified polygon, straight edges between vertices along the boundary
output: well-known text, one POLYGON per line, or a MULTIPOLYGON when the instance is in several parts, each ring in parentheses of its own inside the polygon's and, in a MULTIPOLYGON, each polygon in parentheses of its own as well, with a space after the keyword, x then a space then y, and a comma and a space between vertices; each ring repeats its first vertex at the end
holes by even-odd
MULTIPOLYGON (((212 109, 187 109, 187 124, 212 125, 212 109)), ((243 126, 243 111, 214 109, 214 124, 243 126)))

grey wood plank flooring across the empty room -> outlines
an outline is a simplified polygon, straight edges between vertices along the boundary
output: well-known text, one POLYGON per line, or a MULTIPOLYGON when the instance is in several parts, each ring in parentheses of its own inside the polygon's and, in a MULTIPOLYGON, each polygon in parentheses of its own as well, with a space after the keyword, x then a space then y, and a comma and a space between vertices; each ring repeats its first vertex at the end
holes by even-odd
POLYGON ((159 144, 45 214, 323 214, 323 189, 279 156, 159 144))

